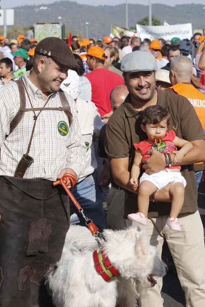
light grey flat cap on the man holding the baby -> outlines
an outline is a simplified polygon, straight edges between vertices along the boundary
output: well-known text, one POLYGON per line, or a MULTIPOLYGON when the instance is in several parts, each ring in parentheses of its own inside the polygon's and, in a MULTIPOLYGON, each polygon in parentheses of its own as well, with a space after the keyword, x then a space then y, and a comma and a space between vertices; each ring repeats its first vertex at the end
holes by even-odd
POLYGON ((122 72, 155 70, 156 67, 157 61, 150 52, 133 51, 123 56, 121 60, 122 72))

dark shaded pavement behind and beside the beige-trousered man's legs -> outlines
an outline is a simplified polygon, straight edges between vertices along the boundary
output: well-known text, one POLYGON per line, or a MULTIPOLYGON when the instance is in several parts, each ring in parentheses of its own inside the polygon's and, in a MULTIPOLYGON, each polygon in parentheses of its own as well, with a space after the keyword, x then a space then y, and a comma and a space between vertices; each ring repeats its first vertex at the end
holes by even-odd
MULTIPOLYGON (((205 234, 205 182, 199 185, 198 205, 205 234)), ((205 235, 204 235, 205 237, 205 235)), ((190 259, 191 261, 191 259, 190 259)), ((205 259, 204 259, 205 261, 205 259)), ((162 297, 164 307, 183 307, 185 305, 184 293, 177 275, 168 273, 163 280, 162 297)))

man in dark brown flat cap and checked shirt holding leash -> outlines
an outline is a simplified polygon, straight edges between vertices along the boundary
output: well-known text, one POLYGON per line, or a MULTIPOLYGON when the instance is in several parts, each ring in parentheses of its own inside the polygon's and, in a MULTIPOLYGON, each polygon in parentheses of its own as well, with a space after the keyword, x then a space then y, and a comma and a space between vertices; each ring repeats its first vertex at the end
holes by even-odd
POLYGON ((60 90, 71 66, 77 63, 68 45, 45 38, 32 72, 0 91, 2 307, 37 307, 38 286, 61 258, 69 201, 53 181, 66 173, 77 178, 86 164, 74 99, 60 90))

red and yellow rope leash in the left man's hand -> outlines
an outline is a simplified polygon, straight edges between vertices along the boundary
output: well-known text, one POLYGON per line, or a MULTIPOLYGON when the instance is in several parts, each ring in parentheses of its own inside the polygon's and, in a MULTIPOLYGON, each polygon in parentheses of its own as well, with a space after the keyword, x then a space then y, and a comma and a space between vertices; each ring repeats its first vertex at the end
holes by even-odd
POLYGON ((76 177, 73 176, 72 174, 65 174, 64 177, 62 177, 61 179, 54 181, 53 185, 54 186, 59 185, 59 184, 62 185, 62 187, 65 189, 65 191, 69 195, 70 199, 72 200, 73 204, 76 206, 78 211, 82 214, 83 218, 85 219, 85 223, 88 226, 90 232, 92 233, 92 235, 95 235, 95 234, 97 234, 97 232, 99 232, 99 229, 93 223, 92 220, 88 219, 87 216, 84 215, 83 208, 80 206, 80 204, 77 202, 77 200, 75 199, 75 197, 73 196, 73 194, 71 193, 71 191, 68 188, 68 184, 69 184, 68 181, 69 180, 70 180, 70 183, 71 183, 71 188, 73 188, 74 185, 76 184, 76 177))

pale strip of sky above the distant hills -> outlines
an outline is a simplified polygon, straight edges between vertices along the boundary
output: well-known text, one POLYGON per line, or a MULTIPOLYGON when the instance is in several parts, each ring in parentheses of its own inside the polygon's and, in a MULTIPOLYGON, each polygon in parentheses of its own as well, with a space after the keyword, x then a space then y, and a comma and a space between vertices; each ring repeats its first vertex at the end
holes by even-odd
MULTIPOLYGON (((126 0, 75 0, 77 3, 81 4, 89 4, 89 5, 117 5, 117 4, 122 4, 125 3, 126 0)), ((41 4, 49 4, 55 2, 55 0, 1 0, 0 6, 2 9, 7 9, 7 8, 12 8, 15 6, 19 5, 41 5, 41 4)), ((133 3, 133 4, 144 4, 148 5, 148 0, 128 0, 128 3, 133 3)), ((152 3, 163 3, 167 5, 174 6, 176 4, 185 4, 185 3, 200 3, 204 4, 205 6, 205 0, 151 0, 152 3), (171 3, 170 3, 171 2, 171 3)))

